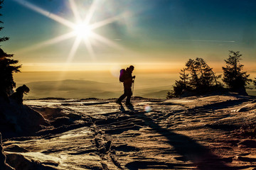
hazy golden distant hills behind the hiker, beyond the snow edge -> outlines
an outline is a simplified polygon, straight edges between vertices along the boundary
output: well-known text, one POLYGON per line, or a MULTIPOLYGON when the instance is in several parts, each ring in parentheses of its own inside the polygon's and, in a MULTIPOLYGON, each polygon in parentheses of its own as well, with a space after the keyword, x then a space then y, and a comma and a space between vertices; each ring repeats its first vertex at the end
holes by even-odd
MULTIPOLYGON (((17 84, 21 86, 22 84, 17 84)), ((118 98, 123 93, 122 83, 102 83, 98 81, 73 80, 32 81, 26 84, 30 88, 24 98, 118 98)), ((144 88, 137 84, 134 96, 146 98, 166 98, 170 86, 144 88)))

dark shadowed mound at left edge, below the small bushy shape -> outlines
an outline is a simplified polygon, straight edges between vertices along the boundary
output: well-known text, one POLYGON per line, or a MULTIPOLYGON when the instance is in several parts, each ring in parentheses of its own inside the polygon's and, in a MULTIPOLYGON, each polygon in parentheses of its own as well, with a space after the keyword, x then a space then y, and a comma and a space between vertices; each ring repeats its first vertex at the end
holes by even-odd
POLYGON ((43 115, 26 105, 0 97, 0 132, 3 137, 33 135, 49 125, 43 115))

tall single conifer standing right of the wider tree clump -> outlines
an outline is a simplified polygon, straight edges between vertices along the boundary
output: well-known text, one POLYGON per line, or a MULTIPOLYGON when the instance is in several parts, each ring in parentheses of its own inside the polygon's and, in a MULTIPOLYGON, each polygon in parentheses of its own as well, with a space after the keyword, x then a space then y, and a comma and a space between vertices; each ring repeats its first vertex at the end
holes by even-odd
POLYGON ((252 79, 248 77, 250 74, 247 72, 242 72, 243 65, 240 64, 241 56, 240 52, 229 51, 228 59, 224 60, 226 62, 226 67, 223 69, 223 82, 228 86, 231 91, 239 92, 240 94, 247 94, 245 87, 250 84, 252 79))

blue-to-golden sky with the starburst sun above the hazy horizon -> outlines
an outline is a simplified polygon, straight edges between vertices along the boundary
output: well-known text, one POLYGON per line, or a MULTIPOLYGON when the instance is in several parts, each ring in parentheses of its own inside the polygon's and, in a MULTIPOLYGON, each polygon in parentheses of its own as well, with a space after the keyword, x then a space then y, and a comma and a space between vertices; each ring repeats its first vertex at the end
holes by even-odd
POLYGON ((23 71, 178 72, 203 57, 221 71, 228 50, 256 72, 255 0, 5 0, 1 47, 23 71))

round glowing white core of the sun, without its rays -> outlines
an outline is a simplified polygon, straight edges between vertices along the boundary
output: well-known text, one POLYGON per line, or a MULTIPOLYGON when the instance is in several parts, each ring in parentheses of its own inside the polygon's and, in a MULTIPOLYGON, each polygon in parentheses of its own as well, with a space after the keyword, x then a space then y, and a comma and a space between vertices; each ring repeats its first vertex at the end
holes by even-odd
POLYGON ((74 29, 75 35, 78 38, 83 38, 87 40, 93 35, 92 28, 90 28, 90 26, 87 25, 86 23, 78 23, 77 25, 75 25, 75 28, 73 29, 74 29))

